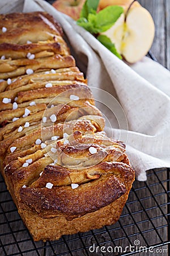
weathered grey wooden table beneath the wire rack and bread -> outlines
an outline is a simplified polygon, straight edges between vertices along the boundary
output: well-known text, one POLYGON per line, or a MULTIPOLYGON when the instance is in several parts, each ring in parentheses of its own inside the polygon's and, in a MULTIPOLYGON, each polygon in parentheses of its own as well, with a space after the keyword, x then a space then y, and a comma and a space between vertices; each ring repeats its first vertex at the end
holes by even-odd
MULTIPOLYGON (((53 2, 53 1, 49 1, 53 2)), ((140 0, 152 14, 156 34, 152 54, 170 69, 170 1, 140 0)), ((3 180, 0 180, 0 255, 114 255, 90 253, 89 247, 122 246, 124 249, 138 240, 141 246, 155 246, 153 251, 135 255, 168 255, 169 171, 150 170, 146 182, 135 181, 120 220, 113 226, 74 236, 64 236, 54 242, 33 242, 25 229, 3 180)), ((139 247, 138 247, 139 248, 139 247)), ((134 254, 134 253, 132 253, 134 254)), ((116 255, 116 254, 115 254, 116 255)), ((126 255, 124 253, 123 255, 126 255)))

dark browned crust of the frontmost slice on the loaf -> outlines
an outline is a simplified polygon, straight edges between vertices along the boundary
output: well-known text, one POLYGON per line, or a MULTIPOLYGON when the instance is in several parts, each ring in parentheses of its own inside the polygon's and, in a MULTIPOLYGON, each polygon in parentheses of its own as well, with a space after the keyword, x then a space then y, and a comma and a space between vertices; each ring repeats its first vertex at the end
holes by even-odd
POLYGON ((117 177, 104 176, 74 190, 71 186, 21 188, 20 197, 22 203, 36 210, 41 217, 64 216, 67 220, 73 220, 111 204, 125 192, 125 185, 117 177))

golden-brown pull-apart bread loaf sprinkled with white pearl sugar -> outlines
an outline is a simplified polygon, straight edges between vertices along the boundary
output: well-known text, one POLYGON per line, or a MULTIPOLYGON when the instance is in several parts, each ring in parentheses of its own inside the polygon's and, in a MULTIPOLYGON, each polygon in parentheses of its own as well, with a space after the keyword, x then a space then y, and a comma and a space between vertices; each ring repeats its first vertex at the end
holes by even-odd
POLYGON ((35 241, 114 224, 134 181, 46 13, 0 15, 1 171, 35 241))

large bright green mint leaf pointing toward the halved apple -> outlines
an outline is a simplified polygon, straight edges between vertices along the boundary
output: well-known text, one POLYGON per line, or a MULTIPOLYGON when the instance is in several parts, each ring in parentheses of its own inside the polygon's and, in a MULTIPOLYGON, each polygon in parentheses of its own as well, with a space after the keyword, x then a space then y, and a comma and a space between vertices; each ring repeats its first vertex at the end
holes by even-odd
POLYGON ((121 6, 108 6, 96 14, 96 24, 100 32, 107 31, 124 12, 121 6))

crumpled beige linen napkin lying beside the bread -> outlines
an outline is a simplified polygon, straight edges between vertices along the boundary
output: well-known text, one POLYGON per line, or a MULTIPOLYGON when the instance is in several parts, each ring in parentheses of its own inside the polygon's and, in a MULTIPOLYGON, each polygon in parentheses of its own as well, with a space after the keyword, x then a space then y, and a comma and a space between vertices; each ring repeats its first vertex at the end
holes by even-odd
POLYGON ((19 11, 19 6, 24 12, 48 11, 61 23, 107 118, 106 130, 126 142, 137 179, 146 180, 151 168, 170 167, 170 72, 147 57, 129 67, 45 1, 14 0, 12 7, 3 4, 1 12, 19 11))

